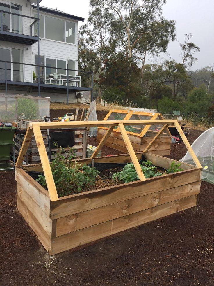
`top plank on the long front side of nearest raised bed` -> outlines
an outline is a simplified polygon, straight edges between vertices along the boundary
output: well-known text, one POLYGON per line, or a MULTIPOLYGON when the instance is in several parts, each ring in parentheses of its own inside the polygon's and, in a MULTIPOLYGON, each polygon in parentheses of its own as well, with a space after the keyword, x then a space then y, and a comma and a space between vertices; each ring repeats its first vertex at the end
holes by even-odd
POLYGON ((65 217, 199 180, 200 169, 192 169, 149 178, 146 181, 135 181, 81 194, 74 194, 51 203, 51 218, 65 217), (101 200, 101 197, 105 197, 105 199, 101 200))

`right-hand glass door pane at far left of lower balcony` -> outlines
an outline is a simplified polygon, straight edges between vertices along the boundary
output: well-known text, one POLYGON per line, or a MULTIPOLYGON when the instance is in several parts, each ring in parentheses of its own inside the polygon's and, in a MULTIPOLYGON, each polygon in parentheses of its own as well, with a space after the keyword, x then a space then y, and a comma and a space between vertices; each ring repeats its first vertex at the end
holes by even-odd
MULTIPOLYGON (((12 49, 13 62, 23 63, 23 50, 12 49)), ((23 81, 23 64, 13 64, 13 80, 23 81)))

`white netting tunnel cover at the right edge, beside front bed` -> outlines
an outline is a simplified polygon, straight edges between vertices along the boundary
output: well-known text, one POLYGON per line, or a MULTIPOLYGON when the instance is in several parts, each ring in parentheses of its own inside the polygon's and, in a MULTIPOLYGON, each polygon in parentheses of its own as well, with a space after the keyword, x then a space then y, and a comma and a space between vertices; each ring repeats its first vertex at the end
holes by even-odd
MULTIPOLYGON (((202 180, 214 184, 214 127, 202 133, 192 144, 202 170, 202 180)), ((195 165, 189 152, 180 160, 195 165)))

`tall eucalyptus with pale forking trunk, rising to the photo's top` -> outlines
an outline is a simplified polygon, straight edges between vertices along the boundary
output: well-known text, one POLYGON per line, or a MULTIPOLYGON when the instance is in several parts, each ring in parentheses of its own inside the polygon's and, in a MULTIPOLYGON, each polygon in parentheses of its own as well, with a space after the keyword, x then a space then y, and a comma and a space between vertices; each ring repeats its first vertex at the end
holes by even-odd
MULTIPOLYGON (((154 21, 162 11, 166 0, 90 0, 92 7, 99 7, 108 11, 115 21, 111 21, 113 27, 111 35, 119 39, 127 57, 128 80, 130 81, 131 63, 133 52, 140 38, 151 31, 145 31, 145 23, 154 21)), ((128 85, 129 89, 129 85, 128 85)))

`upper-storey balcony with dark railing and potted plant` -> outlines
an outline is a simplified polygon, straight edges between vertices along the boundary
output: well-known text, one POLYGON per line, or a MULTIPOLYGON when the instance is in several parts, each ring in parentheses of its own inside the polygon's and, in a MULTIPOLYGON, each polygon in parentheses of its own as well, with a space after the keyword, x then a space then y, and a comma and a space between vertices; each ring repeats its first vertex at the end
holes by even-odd
POLYGON ((39 40, 38 36, 32 36, 37 21, 38 18, 0 10, 0 40, 33 45, 39 40))

